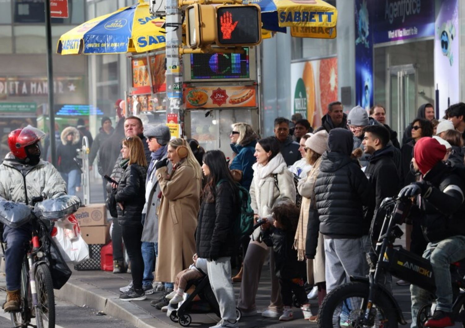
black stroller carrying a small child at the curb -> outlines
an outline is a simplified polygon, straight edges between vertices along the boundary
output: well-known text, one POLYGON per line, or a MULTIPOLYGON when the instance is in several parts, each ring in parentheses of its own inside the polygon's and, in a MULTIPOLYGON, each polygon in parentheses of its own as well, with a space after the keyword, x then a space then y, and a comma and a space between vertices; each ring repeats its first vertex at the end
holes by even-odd
MULTIPOLYGON (((173 322, 179 322, 182 327, 188 327, 191 322, 192 318, 189 313, 210 313, 213 312, 214 314, 221 317, 219 313, 219 304, 216 300, 215 295, 213 294, 212 287, 210 286, 210 281, 208 280, 208 276, 201 271, 204 276, 198 279, 189 280, 187 282, 186 290, 195 286, 195 290, 192 292, 187 299, 181 303, 178 309, 173 309, 170 314, 170 319, 173 322), (210 306, 210 309, 206 310, 199 310, 193 309, 193 299, 195 296, 199 295, 200 300, 199 302, 206 302, 210 306)), ((168 309, 169 311, 169 309, 168 309)), ((236 308, 236 320, 240 320, 241 313, 238 308, 236 308)))

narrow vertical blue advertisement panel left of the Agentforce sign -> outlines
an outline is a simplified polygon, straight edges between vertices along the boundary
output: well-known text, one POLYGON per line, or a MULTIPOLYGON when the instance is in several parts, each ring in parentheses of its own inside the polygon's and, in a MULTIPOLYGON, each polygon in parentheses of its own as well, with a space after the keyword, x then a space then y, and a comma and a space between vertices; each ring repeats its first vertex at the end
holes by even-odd
POLYGON ((373 24, 366 0, 355 0, 355 101, 370 109, 373 103, 373 24))

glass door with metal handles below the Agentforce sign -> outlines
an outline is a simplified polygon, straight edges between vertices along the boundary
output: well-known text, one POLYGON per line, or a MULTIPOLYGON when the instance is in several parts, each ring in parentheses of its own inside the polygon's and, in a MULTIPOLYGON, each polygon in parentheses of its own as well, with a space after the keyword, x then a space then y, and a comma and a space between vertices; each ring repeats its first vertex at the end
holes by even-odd
POLYGON ((397 131, 401 139, 405 126, 417 116, 418 74, 413 64, 392 66, 389 74, 391 129, 397 131))

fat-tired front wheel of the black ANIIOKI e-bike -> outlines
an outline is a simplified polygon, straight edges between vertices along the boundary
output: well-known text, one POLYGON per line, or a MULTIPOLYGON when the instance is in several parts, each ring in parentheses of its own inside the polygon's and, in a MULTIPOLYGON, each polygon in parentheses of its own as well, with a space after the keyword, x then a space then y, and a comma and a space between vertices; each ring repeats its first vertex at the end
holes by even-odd
POLYGON ((362 324, 369 293, 367 283, 347 283, 333 289, 321 303, 318 311, 319 328, 397 328, 397 315, 391 302, 378 295, 373 302, 370 323, 362 324))

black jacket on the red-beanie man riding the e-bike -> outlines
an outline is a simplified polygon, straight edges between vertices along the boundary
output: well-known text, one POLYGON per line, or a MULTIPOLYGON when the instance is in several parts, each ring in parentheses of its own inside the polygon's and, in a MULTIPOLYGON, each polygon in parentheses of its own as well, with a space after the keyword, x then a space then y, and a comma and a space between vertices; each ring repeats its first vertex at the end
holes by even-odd
POLYGON ((423 179, 432 187, 431 193, 426 192, 421 203, 421 210, 425 213, 421 227, 428 241, 465 236, 464 173, 463 167, 448 167, 440 161, 425 174, 423 179))

